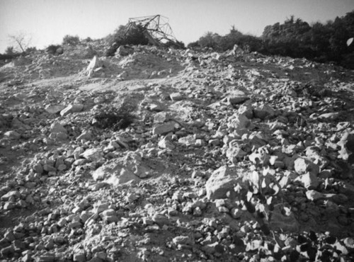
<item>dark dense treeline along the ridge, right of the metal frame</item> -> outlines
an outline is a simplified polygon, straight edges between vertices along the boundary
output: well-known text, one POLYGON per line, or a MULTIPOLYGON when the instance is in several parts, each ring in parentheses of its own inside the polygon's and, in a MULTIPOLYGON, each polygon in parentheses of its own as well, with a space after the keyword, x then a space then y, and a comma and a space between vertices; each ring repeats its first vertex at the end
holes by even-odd
POLYGON ((354 68, 354 44, 346 44, 353 37, 354 11, 351 11, 325 24, 309 25, 291 16, 284 23, 266 26, 260 38, 245 35, 234 27, 227 35, 208 32, 188 47, 212 47, 226 51, 236 44, 244 50, 264 55, 306 57, 316 62, 336 62, 354 68))

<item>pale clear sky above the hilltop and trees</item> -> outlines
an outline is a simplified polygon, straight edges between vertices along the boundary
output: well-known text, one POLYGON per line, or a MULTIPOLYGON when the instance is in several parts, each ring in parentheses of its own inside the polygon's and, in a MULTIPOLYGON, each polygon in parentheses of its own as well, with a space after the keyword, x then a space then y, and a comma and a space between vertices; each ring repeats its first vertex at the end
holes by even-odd
POLYGON ((198 40, 207 31, 224 35, 232 25, 261 35, 266 25, 291 15, 325 23, 354 10, 354 0, 0 0, 0 52, 8 35, 32 37, 32 46, 60 44, 64 35, 103 38, 128 18, 161 14, 178 40, 198 40))

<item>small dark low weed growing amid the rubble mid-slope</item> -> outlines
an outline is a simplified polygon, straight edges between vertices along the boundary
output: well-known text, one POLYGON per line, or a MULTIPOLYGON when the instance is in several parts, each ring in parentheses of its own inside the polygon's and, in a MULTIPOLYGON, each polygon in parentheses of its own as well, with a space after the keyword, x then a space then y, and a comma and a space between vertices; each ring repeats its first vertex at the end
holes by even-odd
POLYGON ((120 106, 118 108, 103 107, 93 116, 93 125, 102 129, 112 129, 114 131, 128 127, 134 121, 130 106, 120 106))

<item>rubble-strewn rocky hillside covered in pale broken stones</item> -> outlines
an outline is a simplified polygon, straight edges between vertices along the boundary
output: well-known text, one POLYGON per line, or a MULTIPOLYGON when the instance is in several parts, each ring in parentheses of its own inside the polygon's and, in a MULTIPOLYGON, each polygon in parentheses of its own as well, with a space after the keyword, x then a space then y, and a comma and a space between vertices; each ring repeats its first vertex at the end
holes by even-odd
POLYGON ((1 261, 353 261, 353 71, 102 54, 0 68, 1 261))

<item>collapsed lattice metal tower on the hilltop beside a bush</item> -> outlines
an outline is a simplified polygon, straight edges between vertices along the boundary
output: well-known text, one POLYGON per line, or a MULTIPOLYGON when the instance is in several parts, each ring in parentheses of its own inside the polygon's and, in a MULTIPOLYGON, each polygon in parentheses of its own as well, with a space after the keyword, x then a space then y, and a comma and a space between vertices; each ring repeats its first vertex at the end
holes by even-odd
POLYGON ((152 45, 159 46, 170 42, 173 45, 181 46, 173 35, 168 21, 168 18, 161 15, 129 18, 127 32, 139 25, 144 28, 144 35, 152 45))

